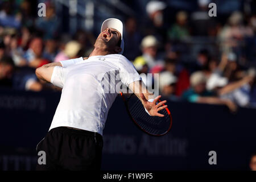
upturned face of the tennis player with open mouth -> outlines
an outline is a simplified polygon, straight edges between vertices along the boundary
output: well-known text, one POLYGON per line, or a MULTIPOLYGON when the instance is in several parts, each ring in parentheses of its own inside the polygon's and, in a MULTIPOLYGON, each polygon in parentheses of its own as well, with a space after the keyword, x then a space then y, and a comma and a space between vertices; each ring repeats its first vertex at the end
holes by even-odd
POLYGON ((119 40, 121 39, 121 34, 114 28, 106 28, 102 31, 94 44, 94 47, 100 47, 106 49, 109 52, 118 53, 121 51, 121 48, 118 45, 119 40))

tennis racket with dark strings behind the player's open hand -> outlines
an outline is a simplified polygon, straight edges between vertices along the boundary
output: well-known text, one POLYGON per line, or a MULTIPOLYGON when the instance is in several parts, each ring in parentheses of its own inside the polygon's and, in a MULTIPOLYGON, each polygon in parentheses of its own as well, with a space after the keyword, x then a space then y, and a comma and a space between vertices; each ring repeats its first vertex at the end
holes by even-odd
POLYGON ((172 116, 168 107, 159 111, 164 117, 151 116, 146 113, 141 100, 134 93, 127 97, 123 93, 120 94, 125 102, 127 113, 139 129, 152 136, 163 136, 171 130, 172 116))

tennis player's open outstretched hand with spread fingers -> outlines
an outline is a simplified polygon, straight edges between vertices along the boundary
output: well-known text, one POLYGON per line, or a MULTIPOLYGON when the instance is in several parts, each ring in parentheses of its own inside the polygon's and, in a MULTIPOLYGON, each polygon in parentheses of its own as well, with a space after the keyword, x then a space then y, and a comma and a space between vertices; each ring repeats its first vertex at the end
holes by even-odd
POLYGON ((158 111, 165 109, 167 107, 167 105, 163 105, 164 103, 167 102, 166 100, 156 104, 156 102, 158 102, 158 100, 161 96, 156 97, 153 102, 147 101, 143 93, 140 93, 139 96, 141 97, 143 106, 145 107, 145 109, 147 109, 148 113, 151 116, 164 117, 164 115, 158 113, 158 111))

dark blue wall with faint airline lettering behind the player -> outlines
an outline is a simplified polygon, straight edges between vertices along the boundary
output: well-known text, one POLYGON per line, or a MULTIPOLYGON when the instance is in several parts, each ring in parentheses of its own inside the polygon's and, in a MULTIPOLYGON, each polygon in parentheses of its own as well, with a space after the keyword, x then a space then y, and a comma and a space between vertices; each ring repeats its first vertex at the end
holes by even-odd
MULTIPOLYGON (((31 170, 36 144, 46 135, 60 93, 0 91, 0 169, 31 170)), ((104 130, 102 169, 248 169, 256 151, 255 109, 236 114, 225 106, 168 102, 173 126, 151 137, 130 121, 123 101, 115 100, 104 130), (209 165, 209 151, 217 165, 209 165)))

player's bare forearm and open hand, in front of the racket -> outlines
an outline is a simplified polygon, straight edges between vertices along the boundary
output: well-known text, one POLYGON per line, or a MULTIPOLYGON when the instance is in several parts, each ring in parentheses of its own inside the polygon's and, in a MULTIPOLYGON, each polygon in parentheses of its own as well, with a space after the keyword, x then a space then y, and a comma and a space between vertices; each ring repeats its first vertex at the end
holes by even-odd
POLYGON ((158 111, 167 107, 167 105, 162 106, 166 101, 157 103, 161 96, 154 98, 154 94, 148 92, 141 80, 131 82, 131 84, 129 84, 129 89, 131 89, 139 100, 141 100, 148 114, 151 116, 164 117, 163 114, 158 113, 158 111))

